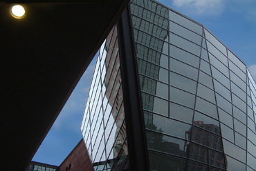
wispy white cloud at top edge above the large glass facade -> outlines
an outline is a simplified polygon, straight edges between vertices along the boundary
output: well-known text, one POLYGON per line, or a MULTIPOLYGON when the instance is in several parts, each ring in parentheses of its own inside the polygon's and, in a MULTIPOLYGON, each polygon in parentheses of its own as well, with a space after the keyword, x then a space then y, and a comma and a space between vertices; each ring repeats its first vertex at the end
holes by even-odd
POLYGON ((174 0, 173 5, 190 13, 210 15, 219 15, 224 8, 223 0, 174 0))

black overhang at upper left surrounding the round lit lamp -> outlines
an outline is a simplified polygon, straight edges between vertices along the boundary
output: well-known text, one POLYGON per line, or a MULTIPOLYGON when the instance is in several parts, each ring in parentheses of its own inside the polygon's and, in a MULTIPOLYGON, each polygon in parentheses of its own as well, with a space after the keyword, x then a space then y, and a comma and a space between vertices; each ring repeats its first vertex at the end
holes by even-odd
POLYGON ((26 168, 128 3, 24 3, 15 19, 0 2, 0 170, 26 168))

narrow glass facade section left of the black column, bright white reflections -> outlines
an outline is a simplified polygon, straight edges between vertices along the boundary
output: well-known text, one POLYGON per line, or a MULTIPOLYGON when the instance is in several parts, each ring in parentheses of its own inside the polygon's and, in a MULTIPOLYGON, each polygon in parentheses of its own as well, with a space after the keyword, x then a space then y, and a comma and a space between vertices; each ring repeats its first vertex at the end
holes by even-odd
POLYGON ((129 168, 116 29, 98 52, 81 124, 95 170, 129 168))

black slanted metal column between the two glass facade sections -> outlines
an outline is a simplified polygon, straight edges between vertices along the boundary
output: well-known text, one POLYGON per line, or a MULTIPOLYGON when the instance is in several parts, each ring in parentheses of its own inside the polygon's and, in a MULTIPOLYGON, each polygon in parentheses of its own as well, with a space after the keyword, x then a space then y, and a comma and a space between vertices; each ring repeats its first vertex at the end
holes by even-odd
POLYGON ((129 6, 122 13, 117 26, 129 167, 130 170, 149 170, 143 106, 129 6))

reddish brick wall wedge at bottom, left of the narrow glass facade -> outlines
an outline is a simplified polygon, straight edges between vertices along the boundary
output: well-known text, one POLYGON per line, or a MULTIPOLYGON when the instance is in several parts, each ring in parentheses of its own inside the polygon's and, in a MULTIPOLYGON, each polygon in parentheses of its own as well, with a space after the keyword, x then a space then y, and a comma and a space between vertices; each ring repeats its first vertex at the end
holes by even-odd
POLYGON ((93 171, 93 166, 83 139, 77 143, 71 153, 68 154, 68 157, 60 164, 60 171, 66 171, 69 165, 71 165, 71 167, 67 169, 68 171, 93 171))

